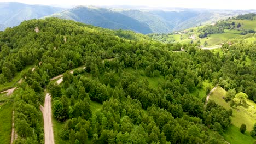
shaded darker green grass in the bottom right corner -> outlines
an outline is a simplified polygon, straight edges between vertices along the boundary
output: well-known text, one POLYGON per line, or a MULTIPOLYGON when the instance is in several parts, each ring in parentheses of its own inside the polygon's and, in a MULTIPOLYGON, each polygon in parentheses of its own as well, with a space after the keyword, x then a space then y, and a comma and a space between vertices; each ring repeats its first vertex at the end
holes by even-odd
POLYGON ((249 135, 249 132, 246 131, 245 134, 240 132, 240 128, 235 127, 234 125, 230 125, 230 127, 225 131, 224 138, 230 144, 241 144, 241 143, 251 143, 253 144, 252 136, 249 135))

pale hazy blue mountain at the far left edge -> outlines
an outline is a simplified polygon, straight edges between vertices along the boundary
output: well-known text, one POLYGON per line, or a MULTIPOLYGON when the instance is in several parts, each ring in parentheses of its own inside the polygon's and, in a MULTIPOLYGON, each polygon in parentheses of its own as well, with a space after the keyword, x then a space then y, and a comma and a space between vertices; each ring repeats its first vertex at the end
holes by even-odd
POLYGON ((64 10, 46 5, 0 2, 0 30, 19 25, 24 20, 39 19, 64 10))

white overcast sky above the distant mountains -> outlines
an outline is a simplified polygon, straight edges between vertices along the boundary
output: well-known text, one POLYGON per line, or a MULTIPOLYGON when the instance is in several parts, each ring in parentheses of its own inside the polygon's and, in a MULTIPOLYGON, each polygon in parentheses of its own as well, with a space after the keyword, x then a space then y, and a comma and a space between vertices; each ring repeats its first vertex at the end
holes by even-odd
MULTIPOLYGON (((182 7, 212 9, 256 9, 255 0, 13 0, 43 5, 139 5, 149 7, 182 7)), ((0 2, 13 2, 0 0, 0 2)))

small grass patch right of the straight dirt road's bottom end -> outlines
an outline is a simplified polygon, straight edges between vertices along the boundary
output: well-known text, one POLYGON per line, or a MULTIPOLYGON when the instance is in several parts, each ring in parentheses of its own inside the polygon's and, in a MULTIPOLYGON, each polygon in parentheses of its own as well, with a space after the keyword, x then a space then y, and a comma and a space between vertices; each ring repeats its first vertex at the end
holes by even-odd
POLYGON ((54 142, 56 144, 69 143, 69 141, 61 139, 61 130, 64 123, 57 122, 55 118, 53 118, 53 132, 54 132, 54 142))

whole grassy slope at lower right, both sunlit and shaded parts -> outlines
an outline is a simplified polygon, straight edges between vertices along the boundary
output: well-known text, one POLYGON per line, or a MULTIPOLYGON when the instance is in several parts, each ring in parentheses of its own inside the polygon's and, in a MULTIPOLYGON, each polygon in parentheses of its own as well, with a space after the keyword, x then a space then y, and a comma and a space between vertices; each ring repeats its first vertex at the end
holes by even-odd
POLYGON ((226 103, 222 98, 226 91, 222 87, 217 87, 216 90, 211 94, 210 99, 214 100, 217 104, 222 105, 225 109, 232 109, 233 116, 231 117, 231 124, 228 130, 224 133, 224 138, 231 144, 238 143, 253 143, 253 139, 249 135, 249 131, 252 130, 253 124, 256 123, 256 104, 247 99, 246 105, 238 106, 236 108, 230 107, 229 103, 226 103), (254 106, 254 107, 252 107, 254 106), (246 124, 247 131, 245 134, 240 132, 240 126, 242 123, 246 124))

